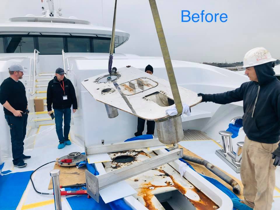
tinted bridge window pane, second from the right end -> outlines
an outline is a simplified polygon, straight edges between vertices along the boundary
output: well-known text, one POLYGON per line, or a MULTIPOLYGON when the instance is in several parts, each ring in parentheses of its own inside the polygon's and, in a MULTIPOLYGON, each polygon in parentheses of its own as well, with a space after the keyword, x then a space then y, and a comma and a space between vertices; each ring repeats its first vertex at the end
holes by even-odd
POLYGON ((89 38, 67 38, 69 53, 90 53, 89 38))

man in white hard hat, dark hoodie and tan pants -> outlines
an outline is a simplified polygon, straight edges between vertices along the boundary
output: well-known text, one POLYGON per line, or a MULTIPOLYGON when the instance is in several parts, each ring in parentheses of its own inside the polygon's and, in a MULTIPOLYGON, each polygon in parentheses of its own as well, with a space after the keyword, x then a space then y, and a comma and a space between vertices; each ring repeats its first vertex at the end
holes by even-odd
POLYGON ((239 210, 270 210, 275 187, 275 169, 280 165, 280 81, 274 76, 275 59, 263 47, 249 50, 243 65, 251 81, 218 94, 197 94, 202 102, 229 104, 243 100, 241 180, 244 200, 233 199, 239 210))

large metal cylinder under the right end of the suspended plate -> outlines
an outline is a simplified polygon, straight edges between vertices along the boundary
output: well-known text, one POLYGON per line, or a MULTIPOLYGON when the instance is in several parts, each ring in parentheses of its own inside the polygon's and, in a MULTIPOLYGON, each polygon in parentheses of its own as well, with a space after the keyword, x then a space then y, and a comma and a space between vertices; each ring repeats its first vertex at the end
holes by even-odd
POLYGON ((181 116, 172 116, 164 121, 155 121, 157 124, 158 140, 164 144, 175 144, 184 137, 181 116))

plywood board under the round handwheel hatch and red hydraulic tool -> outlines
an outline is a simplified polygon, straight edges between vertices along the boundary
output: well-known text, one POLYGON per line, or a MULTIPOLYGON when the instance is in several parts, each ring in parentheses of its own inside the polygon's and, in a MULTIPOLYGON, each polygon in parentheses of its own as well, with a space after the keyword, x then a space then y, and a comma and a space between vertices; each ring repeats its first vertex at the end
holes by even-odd
MULTIPOLYGON (((58 166, 57 162, 53 169, 60 169, 59 183, 60 185, 74 185, 77 183, 85 183, 85 169, 86 167, 81 167, 77 169, 76 166, 63 167, 58 166)), ((53 189, 53 180, 50 179, 50 184, 48 190, 53 189)))

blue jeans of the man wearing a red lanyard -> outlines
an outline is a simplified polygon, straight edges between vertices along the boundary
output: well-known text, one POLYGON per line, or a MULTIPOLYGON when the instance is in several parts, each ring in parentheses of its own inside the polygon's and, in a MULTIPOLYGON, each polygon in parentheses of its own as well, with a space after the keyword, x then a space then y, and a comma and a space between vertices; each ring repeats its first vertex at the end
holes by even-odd
POLYGON ((71 121, 71 108, 54 109, 55 111, 55 130, 59 142, 68 140, 71 121), (62 131, 62 120, 64 115, 64 131, 62 131))

